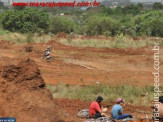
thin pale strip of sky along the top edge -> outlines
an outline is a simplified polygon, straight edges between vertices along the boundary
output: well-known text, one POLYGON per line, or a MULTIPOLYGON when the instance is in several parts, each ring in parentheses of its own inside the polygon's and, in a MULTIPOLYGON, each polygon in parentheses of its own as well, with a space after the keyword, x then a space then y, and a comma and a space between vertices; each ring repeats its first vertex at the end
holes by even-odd
MULTIPOLYGON (((0 0, 0 1, 3 1, 3 2, 5 2, 5 3, 7 3, 8 2, 8 0, 0 0)), ((15 1, 15 2, 29 2, 29 1, 33 1, 33 2, 43 2, 43 1, 55 1, 55 2, 70 2, 70 1, 74 1, 74 0, 13 0, 13 1, 15 1)), ((76 2, 77 1, 80 1, 80 0, 76 0, 76 2)), ((99 2, 101 2, 101 1, 103 1, 103 0, 96 0, 96 1, 99 1, 99 2)), ((131 2, 161 2, 161 0, 131 0, 131 2)))

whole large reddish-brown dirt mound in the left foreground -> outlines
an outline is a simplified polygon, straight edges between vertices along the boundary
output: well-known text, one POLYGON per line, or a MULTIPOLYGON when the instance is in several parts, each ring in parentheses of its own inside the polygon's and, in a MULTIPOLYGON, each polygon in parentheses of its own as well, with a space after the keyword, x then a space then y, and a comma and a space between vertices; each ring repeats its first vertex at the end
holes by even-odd
POLYGON ((15 117, 17 122, 59 122, 66 116, 60 113, 30 59, 3 67, 0 87, 0 117, 15 117))

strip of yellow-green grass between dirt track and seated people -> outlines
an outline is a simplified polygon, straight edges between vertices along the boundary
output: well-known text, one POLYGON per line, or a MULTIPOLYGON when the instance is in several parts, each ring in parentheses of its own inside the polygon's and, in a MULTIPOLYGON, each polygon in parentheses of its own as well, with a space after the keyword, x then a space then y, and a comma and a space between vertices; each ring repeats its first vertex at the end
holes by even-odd
MULTIPOLYGON (((54 98, 69 98, 80 100, 95 100, 98 95, 104 97, 106 102, 115 101, 122 97, 127 103, 149 106, 153 100, 153 86, 135 87, 132 85, 109 86, 99 84, 95 86, 69 86, 61 83, 57 86, 47 85, 54 98), (147 94, 142 97, 142 94, 147 94)), ((163 89, 163 87, 161 87, 163 89)))

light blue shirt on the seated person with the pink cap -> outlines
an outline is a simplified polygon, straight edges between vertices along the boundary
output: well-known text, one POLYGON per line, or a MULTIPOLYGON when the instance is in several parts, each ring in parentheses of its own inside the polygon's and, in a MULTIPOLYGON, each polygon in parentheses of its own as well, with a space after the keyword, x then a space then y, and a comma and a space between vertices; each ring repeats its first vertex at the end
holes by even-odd
POLYGON ((117 119, 119 113, 122 113, 122 106, 119 104, 115 104, 111 110, 112 118, 117 119))

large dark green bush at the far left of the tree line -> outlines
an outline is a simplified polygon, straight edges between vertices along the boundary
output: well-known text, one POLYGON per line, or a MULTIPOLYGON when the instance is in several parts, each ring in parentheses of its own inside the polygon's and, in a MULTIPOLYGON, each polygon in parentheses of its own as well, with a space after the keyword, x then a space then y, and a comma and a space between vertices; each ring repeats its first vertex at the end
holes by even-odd
POLYGON ((38 28, 46 31, 49 25, 49 15, 32 8, 22 11, 10 10, 3 13, 2 24, 4 29, 12 32, 36 32, 38 28))

